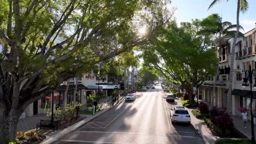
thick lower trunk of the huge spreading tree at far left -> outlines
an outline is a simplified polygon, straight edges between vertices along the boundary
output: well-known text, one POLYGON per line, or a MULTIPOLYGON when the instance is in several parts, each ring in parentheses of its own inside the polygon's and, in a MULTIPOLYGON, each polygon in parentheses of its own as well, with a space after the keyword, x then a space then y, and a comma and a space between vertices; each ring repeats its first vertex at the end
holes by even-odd
POLYGON ((16 129, 19 117, 23 111, 21 110, 7 110, 6 107, 1 106, 0 111, 0 143, 15 142, 16 129))

